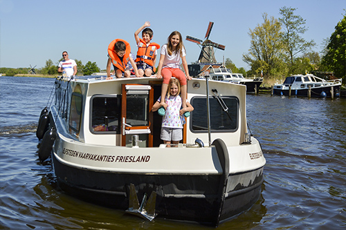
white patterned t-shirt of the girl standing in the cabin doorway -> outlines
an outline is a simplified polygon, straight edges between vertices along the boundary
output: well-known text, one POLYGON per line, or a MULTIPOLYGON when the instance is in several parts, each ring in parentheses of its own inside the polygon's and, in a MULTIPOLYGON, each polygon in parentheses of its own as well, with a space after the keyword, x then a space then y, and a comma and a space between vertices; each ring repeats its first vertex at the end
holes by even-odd
MULTIPOLYGON (((161 102, 161 97, 158 98, 158 102, 161 102)), ((167 104, 167 109, 165 111, 165 116, 163 116, 162 119, 162 127, 183 128, 181 115, 179 115, 181 109, 181 97, 177 95, 176 97, 170 96, 170 98, 167 98, 166 96, 165 103, 167 104)))

